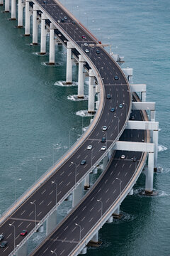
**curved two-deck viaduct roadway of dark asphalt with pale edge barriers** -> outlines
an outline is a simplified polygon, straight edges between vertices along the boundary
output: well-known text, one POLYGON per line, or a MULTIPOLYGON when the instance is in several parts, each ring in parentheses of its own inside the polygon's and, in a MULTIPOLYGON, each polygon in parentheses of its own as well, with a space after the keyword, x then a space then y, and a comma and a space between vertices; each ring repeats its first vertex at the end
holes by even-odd
MULTIPOLYGON (((110 154, 111 156, 113 146, 121 134, 123 134, 125 124, 128 122, 132 105, 130 85, 120 66, 108 55, 106 50, 98 44, 96 38, 91 35, 64 6, 58 1, 47 0, 46 2, 47 4, 44 4, 42 0, 33 1, 33 3, 30 2, 30 6, 33 6, 33 4, 38 6, 38 9, 41 11, 41 14, 38 14, 41 16, 43 13, 47 16, 47 25, 50 26, 51 22, 53 26, 55 26, 57 35, 58 31, 60 31, 60 41, 62 41, 64 45, 66 45, 68 41, 71 42, 74 46, 72 53, 77 56, 81 55, 84 59, 83 63, 86 61, 84 64, 87 70, 93 70, 98 85, 100 86, 101 100, 93 122, 79 139, 79 142, 74 144, 62 159, 57 161, 37 183, 26 191, 13 206, 6 210, 4 215, 1 216, 0 233, 3 233, 5 237, 8 238, 8 246, 6 249, 1 250, 1 255, 4 256, 14 255, 24 242, 33 235, 35 230, 42 225, 47 217, 56 210, 57 206, 77 188, 79 183, 86 177, 86 174, 89 174, 106 154, 110 154), (61 19, 61 14, 62 16, 67 16, 68 22, 58 23, 58 20, 61 19), (76 31, 76 33, 74 31, 76 31), (82 36, 84 36, 84 38, 82 38, 82 36), (86 47, 84 43, 87 44, 86 47), (92 45, 92 47, 90 45, 92 45), (85 50, 87 48, 89 52, 86 53, 85 50), (100 53, 96 53, 96 50, 99 50, 100 53), (118 79, 115 79, 115 76, 117 76, 118 79), (111 95, 111 99, 106 97, 108 94, 111 95), (120 104, 122 105, 121 108, 119 107, 120 104), (111 112, 112 107, 115 108, 115 113, 111 112), (101 143, 101 138, 103 137, 102 127, 104 125, 108 127, 107 132, 104 134, 107 149, 106 151, 101 151, 101 146, 103 146, 101 143), (91 151, 86 149, 89 144, 93 146, 93 159, 91 151), (80 164, 82 159, 86 159, 84 166, 80 164), (54 186, 52 186, 52 181, 57 182, 56 193, 54 186), (15 233, 13 233, 13 227, 9 225, 11 223, 15 226, 15 233), (20 236, 22 229, 28 230, 26 238, 20 236)), ((142 115, 139 113, 136 115, 138 119, 143 119, 142 115)), ((145 119, 147 119, 147 117, 145 117, 145 119)), ((138 135, 130 135, 130 138, 132 139, 132 136, 134 136, 134 138, 138 138, 137 142, 143 142, 143 139, 147 139, 144 134, 144 132, 139 132, 138 135)), ((128 136, 129 135, 127 135, 127 137, 128 136)), ((47 244, 43 244, 42 247, 33 252, 33 255, 49 255, 49 251, 43 249, 44 246, 54 251, 60 250, 60 255, 77 255, 82 248, 86 246, 86 242, 91 239, 91 234, 93 233, 91 228, 94 228, 94 231, 98 231, 101 225, 106 222, 109 215, 118 207, 118 203, 128 194, 145 164, 144 159, 146 159, 146 154, 143 153, 128 153, 126 154, 127 157, 124 162, 120 161, 119 156, 119 153, 113 154, 112 158, 109 159, 110 165, 106 171, 103 172, 101 178, 99 178, 99 181, 94 186, 94 189, 91 190, 84 200, 72 210, 72 213, 62 221, 55 233, 52 233, 52 236, 47 238, 47 244), (131 157, 135 155, 137 155, 138 161, 130 161, 131 157), (143 156, 145 156, 144 159, 143 156), (140 168, 139 171, 136 171, 138 165, 140 168), (114 171, 112 170, 113 166, 115 168, 114 171), (127 168, 129 172, 125 173, 125 169, 127 168), (116 178, 116 176, 119 176, 119 178, 116 178), (121 190, 119 190, 120 183, 118 183, 120 178, 122 178, 121 190), (110 197, 106 199, 106 203, 102 201, 103 195, 101 193, 103 193, 104 190, 107 191, 104 193, 110 194, 110 197), (89 200, 92 204, 88 203, 89 200), (84 209, 87 208, 87 206, 91 207, 91 214, 96 216, 95 218, 91 217, 89 225, 87 225, 84 230, 81 229, 81 237, 79 238, 79 227, 77 225, 75 228, 75 223, 72 223, 71 219, 77 219, 78 221, 77 216, 79 216, 81 221, 83 221, 84 209), (82 215, 78 214, 80 212, 82 215), (69 226, 69 223, 72 223, 74 227, 69 226), (65 237, 68 228, 68 235, 74 237, 72 241, 70 238, 65 237), (60 236, 58 233, 60 233, 60 236), (64 246, 67 248, 66 250, 62 249, 63 242, 64 246), (43 252, 41 250, 43 250, 43 252)), ((89 217, 91 216, 90 214, 88 215, 89 217)), ((86 223, 86 220, 84 221, 86 223)))

